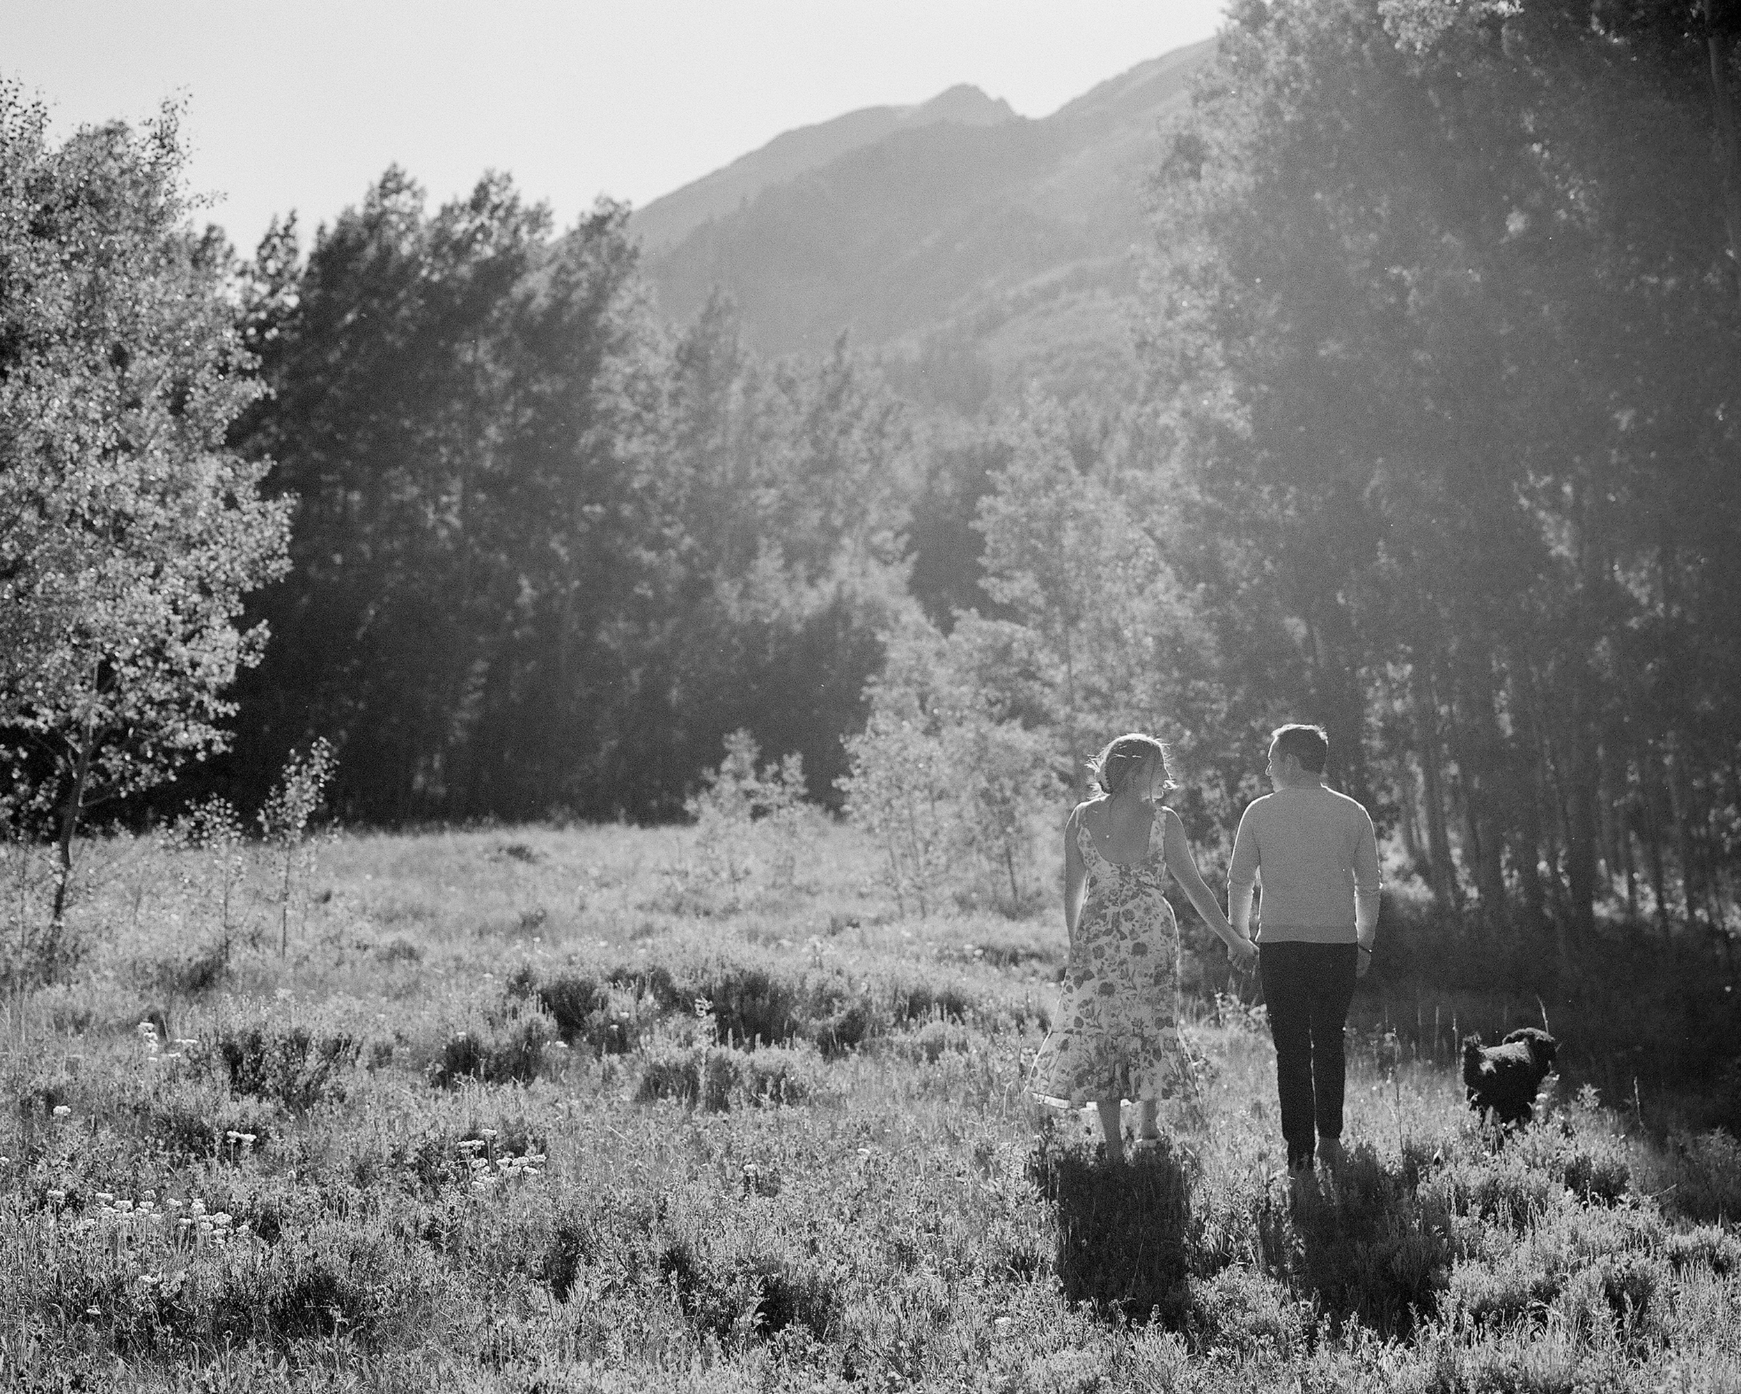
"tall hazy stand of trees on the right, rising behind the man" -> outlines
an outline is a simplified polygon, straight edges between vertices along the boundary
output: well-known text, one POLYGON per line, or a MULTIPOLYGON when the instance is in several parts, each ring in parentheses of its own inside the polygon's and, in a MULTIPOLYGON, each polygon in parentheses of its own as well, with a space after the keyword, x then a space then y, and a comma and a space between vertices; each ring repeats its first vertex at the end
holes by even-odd
POLYGON ((1440 906, 1562 962, 1598 901, 1727 915, 1734 66, 1691 5, 1250 3, 1156 188, 1161 526, 1234 728, 1323 721, 1440 906))

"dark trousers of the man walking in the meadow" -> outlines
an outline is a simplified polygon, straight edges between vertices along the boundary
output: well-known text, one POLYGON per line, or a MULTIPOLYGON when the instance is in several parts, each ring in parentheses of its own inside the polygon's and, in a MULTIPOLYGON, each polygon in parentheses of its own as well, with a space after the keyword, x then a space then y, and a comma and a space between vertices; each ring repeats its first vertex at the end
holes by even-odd
POLYGON ((1311 1166, 1316 1138, 1342 1136, 1342 1026, 1354 997, 1354 946, 1262 944, 1257 969, 1276 1039, 1288 1166, 1311 1166))

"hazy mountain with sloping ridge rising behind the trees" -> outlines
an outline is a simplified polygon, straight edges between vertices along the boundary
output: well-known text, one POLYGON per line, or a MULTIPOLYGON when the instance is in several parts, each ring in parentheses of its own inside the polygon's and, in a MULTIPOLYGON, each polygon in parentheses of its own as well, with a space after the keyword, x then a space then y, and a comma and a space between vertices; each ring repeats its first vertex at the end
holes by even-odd
POLYGON ((987 99, 952 89, 926 108, 956 98, 966 120, 890 125, 877 113, 891 108, 870 108, 782 136, 635 214, 649 279, 677 321, 724 289, 773 354, 822 352, 850 331, 921 376, 971 359, 987 390, 1106 383, 1128 371, 1142 181, 1212 52, 1210 40, 1151 59, 1039 120, 984 118, 987 99), (700 216, 740 167, 766 179, 700 216))

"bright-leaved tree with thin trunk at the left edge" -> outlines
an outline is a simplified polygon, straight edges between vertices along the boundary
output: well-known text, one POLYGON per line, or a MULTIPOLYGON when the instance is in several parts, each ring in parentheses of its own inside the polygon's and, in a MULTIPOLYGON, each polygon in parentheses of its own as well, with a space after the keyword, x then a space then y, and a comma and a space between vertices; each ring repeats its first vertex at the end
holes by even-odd
POLYGON ((284 572, 286 500, 228 448, 259 383, 195 235, 181 136, 82 127, 0 87, 0 737, 3 796, 57 835, 225 748, 266 631, 242 599, 284 572))

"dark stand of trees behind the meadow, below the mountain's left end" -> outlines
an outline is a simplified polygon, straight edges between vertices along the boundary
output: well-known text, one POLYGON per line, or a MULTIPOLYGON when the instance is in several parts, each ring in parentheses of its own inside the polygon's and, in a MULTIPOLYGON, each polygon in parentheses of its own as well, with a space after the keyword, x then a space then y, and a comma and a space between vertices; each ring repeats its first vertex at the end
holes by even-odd
POLYGON ((242 437, 301 505, 244 793, 326 734, 345 815, 672 817, 747 728, 829 795, 905 606, 905 418, 844 348, 759 364, 726 305, 663 333, 625 218, 552 235, 496 176, 430 214, 393 169, 263 240, 242 437))

